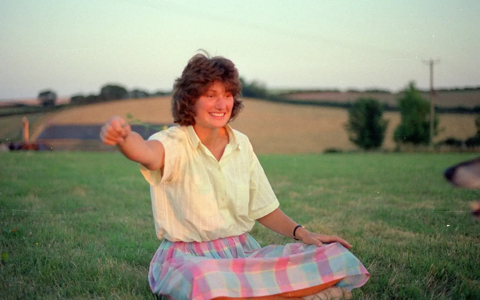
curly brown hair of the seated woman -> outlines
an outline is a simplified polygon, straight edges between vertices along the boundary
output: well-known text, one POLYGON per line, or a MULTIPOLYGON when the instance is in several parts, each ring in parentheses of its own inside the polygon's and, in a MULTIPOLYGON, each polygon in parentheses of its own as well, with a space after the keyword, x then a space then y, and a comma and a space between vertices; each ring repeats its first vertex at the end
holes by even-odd
POLYGON ((172 115, 174 122, 181 126, 195 125, 195 102, 215 81, 222 82, 225 90, 233 95, 232 114, 228 122, 234 120, 243 109, 243 103, 239 99, 239 72, 233 62, 220 56, 212 58, 206 51, 202 51, 205 55, 193 56, 173 85, 172 115))

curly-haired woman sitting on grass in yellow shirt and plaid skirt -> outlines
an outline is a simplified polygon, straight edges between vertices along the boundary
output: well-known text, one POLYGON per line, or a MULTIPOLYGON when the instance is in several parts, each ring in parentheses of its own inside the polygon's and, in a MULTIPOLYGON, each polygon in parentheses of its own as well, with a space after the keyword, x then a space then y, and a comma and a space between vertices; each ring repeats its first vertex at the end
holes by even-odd
POLYGON ((120 117, 101 131, 150 184, 163 239, 150 264, 152 291, 168 299, 341 299, 369 273, 336 236, 289 219, 247 136, 228 122, 243 108, 235 65, 195 55, 172 93, 179 126, 144 140, 120 117), (255 220, 296 243, 261 248, 255 220))

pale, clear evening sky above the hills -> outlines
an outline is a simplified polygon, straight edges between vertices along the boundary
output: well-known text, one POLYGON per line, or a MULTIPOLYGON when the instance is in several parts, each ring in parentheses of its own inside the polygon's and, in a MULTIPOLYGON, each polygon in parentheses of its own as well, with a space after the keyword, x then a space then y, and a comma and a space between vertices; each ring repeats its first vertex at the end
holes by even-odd
POLYGON ((478 0, 0 0, 0 99, 171 90, 204 48, 267 88, 480 86, 478 0))

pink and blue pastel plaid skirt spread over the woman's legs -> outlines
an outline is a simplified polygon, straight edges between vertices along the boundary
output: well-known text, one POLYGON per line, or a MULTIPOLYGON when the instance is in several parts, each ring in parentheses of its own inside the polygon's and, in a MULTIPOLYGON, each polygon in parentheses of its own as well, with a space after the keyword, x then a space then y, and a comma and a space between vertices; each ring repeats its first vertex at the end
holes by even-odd
POLYGON ((299 297, 299 291, 315 287, 351 290, 369 277, 360 261, 338 242, 261 248, 248 233, 209 242, 163 240, 148 274, 153 293, 176 300, 299 297))

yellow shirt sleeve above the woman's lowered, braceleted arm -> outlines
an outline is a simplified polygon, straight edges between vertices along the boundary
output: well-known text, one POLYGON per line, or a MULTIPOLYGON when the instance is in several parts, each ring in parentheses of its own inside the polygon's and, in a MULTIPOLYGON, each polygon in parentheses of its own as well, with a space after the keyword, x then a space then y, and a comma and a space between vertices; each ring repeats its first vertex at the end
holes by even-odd
POLYGON ((250 202, 249 218, 259 219, 279 207, 278 199, 268 182, 264 169, 253 152, 252 144, 247 140, 250 156, 250 202))

